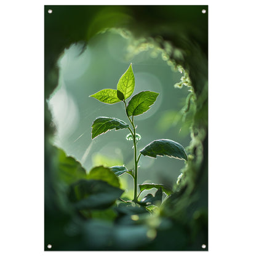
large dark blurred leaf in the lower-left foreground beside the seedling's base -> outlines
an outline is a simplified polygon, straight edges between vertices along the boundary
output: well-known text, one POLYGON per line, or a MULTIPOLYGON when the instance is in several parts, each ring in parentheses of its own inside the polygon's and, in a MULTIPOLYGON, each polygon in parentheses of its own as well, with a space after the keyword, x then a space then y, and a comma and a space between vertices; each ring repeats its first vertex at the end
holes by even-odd
POLYGON ((70 186, 69 198, 78 210, 105 209, 119 198, 124 190, 102 180, 79 180, 70 186))

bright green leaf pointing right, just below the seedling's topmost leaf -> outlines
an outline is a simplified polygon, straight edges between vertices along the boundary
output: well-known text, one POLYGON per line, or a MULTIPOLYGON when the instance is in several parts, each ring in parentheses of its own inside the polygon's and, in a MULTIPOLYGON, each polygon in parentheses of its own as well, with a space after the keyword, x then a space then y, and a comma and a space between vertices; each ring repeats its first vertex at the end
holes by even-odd
POLYGON ((158 95, 158 92, 150 92, 149 90, 134 95, 127 105, 128 116, 138 116, 138 114, 148 111, 158 95))

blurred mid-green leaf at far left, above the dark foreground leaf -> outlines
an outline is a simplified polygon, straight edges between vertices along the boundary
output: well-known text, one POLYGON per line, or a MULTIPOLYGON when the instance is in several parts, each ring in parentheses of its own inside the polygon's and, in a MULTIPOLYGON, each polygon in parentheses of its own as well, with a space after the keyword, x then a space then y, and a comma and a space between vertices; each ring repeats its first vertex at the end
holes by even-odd
POLYGON ((81 178, 86 178, 86 170, 71 156, 66 156, 60 148, 58 150, 58 177, 70 185, 81 178))

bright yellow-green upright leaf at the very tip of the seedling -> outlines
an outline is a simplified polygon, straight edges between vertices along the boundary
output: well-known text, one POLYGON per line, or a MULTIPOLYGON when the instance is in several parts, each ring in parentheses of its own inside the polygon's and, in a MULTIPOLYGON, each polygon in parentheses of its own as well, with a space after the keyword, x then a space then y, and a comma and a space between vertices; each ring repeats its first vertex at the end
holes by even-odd
POLYGON ((118 90, 124 95, 124 99, 126 100, 134 92, 134 86, 134 72, 132 71, 132 63, 130 63, 128 70, 126 70, 126 72, 119 79, 117 87, 118 90))

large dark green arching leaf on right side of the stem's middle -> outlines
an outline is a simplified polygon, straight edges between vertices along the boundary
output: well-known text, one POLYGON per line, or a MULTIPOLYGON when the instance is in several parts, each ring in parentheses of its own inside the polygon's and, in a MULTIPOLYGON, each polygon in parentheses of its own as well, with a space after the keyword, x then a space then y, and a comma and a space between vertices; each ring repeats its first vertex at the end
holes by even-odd
POLYGON ((173 140, 154 140, 150 144, 146 145, 145 148, 140 150, 144 156, 150 156, 156 158, 156 156, 169 156, 170 158, 183 159, 188 161, 188 156, 182 145, 173 140))

